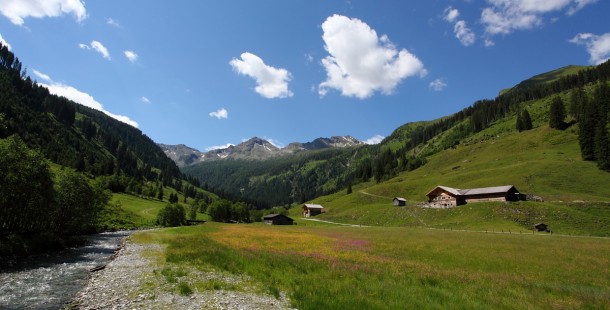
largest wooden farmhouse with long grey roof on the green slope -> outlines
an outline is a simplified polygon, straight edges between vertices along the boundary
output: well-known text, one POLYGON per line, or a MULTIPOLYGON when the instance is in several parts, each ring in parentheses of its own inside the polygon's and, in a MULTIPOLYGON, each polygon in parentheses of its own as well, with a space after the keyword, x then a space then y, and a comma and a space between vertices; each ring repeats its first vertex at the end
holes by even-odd
POLYGON ((469 202, 518 201, 520 194, 512 185, 457 189, 437 186, 426 194, 431 208, 453 208, 469 202))

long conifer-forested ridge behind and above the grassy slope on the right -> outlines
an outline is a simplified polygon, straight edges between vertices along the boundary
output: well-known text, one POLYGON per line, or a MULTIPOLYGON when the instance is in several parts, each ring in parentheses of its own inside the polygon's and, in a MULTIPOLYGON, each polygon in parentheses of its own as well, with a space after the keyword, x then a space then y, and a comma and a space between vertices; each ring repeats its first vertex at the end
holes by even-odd
MULTIPOLYGON (((527 124, 506 130, 529 129, 530 112, 534 111, 528 112, 526 103, 553 96, 561 98, 565 109, 560 123, 562 129, 580 125, 582 158, 596 161, 600 169, 609 170, 605 142, 610 110, 608 78, 610 62, 596 67, 568 66, 525 80, 494 99, 479 100, 455 114, 405 124, 379 145, 281 160, 204 162, 185 167, 183 171, 213 191, 260 206, 303 202, 345 188, 349 191, 352 185, 371 179, 379 183, 402 171, 417 169, 430 155, 455 148, 494 123, 517 114, 519 118, 527 118, 527 124)), ((548 121, 549 111, 539 112, 535 113, 534 121, 548 121)))

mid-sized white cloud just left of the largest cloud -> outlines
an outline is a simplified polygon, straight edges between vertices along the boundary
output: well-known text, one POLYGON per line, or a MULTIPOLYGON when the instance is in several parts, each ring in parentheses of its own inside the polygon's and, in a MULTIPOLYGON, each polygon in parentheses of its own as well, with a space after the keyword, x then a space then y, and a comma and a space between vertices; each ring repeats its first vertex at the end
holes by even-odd
POLYGON ((290 72, 282 68, 266 65, 263 60, 252 54, 242 53, 241 59, 233 58, 229 64, 239 74, 256 80, 255 91, 265 98, 292 97, 288 82, 292 79, 290 72))

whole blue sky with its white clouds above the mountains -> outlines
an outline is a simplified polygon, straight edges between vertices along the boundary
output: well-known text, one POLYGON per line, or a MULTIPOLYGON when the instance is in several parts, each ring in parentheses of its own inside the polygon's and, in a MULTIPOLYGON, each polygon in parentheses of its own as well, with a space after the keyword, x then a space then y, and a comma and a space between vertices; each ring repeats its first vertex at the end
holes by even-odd
POLYGON ((608 59, 609 12, 605 0, 0 0, 0 39, 51 92, 159 143, 375 143, 608 59))

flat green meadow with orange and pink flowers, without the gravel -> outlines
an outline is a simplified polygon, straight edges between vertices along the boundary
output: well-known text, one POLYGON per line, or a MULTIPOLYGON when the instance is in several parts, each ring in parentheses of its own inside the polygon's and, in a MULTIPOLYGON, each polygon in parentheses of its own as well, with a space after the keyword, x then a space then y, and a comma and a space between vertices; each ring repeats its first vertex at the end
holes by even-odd
MULTIPOLYGON (((298 309, 610 305, 610 240, 604 238, 208 223, 140 232, 133 240, 166 244, 167 270, 247 275, 269 294, 287 293, 298 309)), ((192 292, 249 290, 182 279, 175 282, 192 292)))

